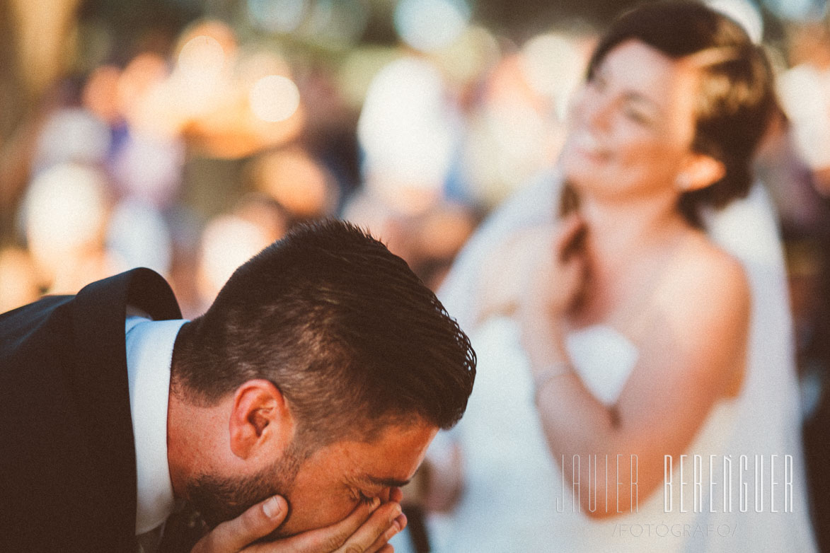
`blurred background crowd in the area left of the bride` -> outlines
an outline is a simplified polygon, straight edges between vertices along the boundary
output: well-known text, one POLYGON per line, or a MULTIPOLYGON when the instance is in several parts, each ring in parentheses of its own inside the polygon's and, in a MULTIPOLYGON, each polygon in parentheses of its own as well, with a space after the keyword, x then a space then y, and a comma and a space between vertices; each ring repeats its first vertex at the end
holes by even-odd
POLYGON ((0 311, 143 265, 193 317, 242 261, 327 216, 368 226, 437 288, 481 216, 554 163, 593 31, 519 45, 432 3, 400 2, 400 44, 337 66, 262 40, 303 13, 248 2, 256 40, 202 18, 168 52, 61 80, 12 194, 0 311))

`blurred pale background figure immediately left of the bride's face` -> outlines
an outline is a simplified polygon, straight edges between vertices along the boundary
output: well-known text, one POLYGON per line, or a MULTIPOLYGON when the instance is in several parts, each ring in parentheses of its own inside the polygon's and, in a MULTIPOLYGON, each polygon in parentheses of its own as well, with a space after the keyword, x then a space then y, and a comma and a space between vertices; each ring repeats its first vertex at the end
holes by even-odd
POLYGON ((555 162, 567 103, 594 41, 581 29, 534 36, 486 75, 467 114, 458 167, 466 194, 477 203, 495 208, 555 162))

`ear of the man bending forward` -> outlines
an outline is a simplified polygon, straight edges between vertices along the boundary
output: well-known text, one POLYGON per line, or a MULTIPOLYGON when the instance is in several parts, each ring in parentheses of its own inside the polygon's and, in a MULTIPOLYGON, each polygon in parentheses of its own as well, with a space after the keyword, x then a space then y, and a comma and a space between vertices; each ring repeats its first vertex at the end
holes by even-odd
POLYGON ((286 398, 270 381, 247 381, 234 392, 228 430, 233 454, 247 459, 285 449, 294 435, 286 398))

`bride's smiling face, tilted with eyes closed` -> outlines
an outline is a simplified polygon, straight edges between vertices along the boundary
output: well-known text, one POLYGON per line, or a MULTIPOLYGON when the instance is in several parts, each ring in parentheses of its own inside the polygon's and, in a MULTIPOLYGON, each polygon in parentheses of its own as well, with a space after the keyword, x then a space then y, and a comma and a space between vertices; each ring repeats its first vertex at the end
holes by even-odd
POLYGON ((602 196, 679 193, 698 82, 691 65, 640 41, 613 48, 574 100, 564 175, 579 191, 602 196))

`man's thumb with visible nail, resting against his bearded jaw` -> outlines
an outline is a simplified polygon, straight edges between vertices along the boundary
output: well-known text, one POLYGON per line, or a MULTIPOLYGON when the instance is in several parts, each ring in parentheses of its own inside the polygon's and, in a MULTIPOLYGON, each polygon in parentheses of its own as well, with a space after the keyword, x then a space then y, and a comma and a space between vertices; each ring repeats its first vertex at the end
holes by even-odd
POLYGON ((191 553, 236 553, 274 531, 285 520, 287 513, 285 499, 270 497, 256 503, 239 517, 219 524, 193 546, 191 553))

